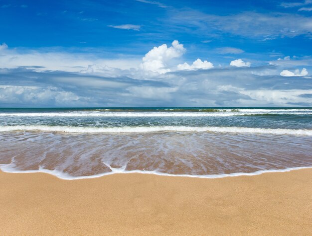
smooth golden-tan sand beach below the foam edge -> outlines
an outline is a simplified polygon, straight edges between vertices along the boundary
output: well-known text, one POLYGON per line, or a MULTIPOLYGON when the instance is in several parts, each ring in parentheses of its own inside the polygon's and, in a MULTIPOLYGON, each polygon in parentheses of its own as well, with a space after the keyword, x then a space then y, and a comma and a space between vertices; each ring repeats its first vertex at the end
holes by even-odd
POLYGON ((219 179, 0 172, 1 235, 312 235, 312 169, 219 179))

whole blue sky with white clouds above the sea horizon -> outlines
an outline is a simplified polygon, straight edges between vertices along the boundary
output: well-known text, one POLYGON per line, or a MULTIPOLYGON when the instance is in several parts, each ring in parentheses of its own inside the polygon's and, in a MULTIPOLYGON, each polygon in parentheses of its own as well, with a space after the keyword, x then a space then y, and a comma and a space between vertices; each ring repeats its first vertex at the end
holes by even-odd
POLYGON ((0 0, 0 107, 312 107, 312 0, 0 0))

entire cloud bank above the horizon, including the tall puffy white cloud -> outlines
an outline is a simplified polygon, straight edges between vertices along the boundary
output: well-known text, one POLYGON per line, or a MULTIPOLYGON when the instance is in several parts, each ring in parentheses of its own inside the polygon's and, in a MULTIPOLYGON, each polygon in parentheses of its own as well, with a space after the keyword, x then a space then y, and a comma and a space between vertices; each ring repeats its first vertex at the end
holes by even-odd
POLYGON ((299 71, 302 65, 311 66, 309 58, 251 64, 231 57, 228 64, 215 66, 207 58, 183 61, 186 50, 174 40, 169 46, 153 47, 142 59, 110 60, 88 54, 20 52, 1 44, 0 104, 312 106, 312 78, 306 68, 299 71))

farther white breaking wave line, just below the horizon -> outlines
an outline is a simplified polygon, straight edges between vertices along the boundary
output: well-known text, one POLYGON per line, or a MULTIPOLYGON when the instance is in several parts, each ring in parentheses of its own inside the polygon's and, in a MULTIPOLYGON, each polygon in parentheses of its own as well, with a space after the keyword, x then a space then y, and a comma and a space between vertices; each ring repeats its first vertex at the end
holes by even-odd
POLYGON ((312 115, 312 110, 307 111, 290 111, 290 110, 261 110, 261 111, 239 111, 239 112, 100 112, 100 111, 83 111, 83 112, 29 112, 29 113, 0 113, 0 116, 20 116, 20 117, 220 117, 220 116, 241 116, 241 115, 312 115), (310 111, 310 112, 308 112, 310 111))

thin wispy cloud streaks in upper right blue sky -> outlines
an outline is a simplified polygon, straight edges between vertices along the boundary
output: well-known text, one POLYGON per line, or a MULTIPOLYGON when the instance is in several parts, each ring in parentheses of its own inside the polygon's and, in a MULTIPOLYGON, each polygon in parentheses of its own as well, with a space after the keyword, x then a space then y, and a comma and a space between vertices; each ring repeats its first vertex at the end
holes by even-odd
POLYGON ((242 12, 214 15, 198 10, 180 10, 172 11, 171 14, 166 21, 169 21, 173 29, 201 36, 230 33, 263 40, 312 33, 312 17, 291 13, 242 12))

